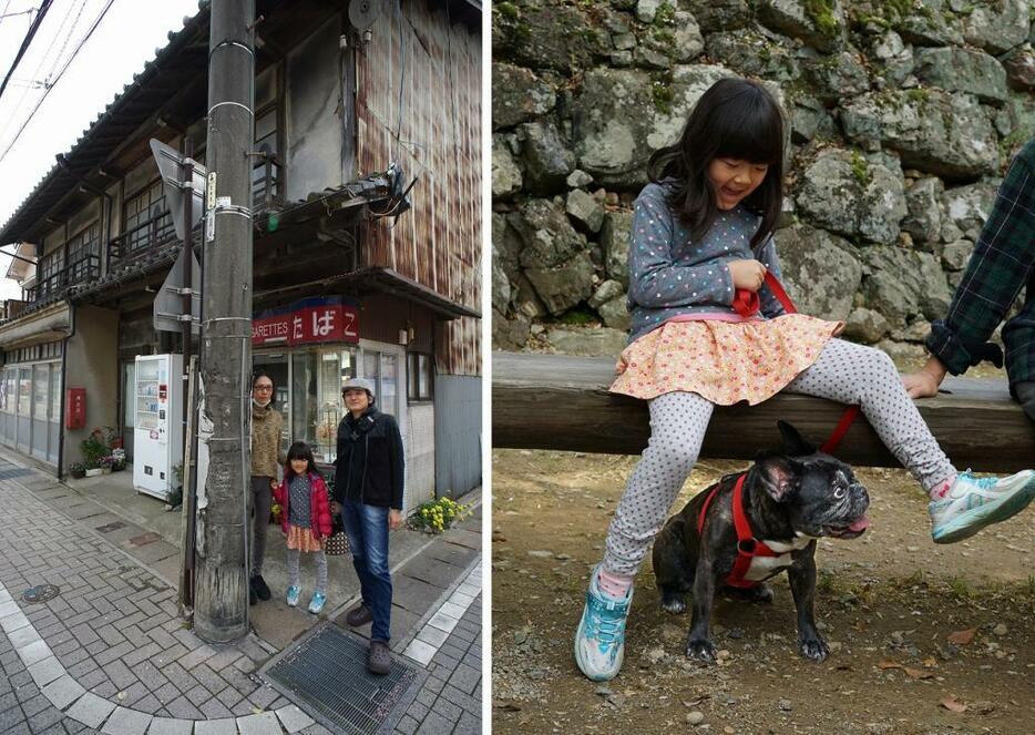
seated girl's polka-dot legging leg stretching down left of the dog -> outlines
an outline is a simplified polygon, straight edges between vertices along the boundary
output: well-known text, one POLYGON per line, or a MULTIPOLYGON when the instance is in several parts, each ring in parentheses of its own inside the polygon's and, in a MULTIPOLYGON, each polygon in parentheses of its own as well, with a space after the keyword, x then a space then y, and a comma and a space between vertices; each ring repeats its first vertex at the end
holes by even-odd
POLYGON ((647 547, 694 469, 714 406, 697 394, 650 401, 650 440, 629 477, 607 531, 604 572, 635 576, 647 547))

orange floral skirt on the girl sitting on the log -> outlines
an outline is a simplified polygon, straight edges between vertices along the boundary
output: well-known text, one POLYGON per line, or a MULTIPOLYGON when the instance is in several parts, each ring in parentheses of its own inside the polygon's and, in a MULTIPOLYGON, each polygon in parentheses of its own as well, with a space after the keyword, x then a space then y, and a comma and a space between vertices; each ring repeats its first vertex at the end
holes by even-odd
POLYGON ((611 391, 646 400, 686 391, 719 406, 754 406, 810 367, 841 326, 805 314, 669 321, 623 350, 611 391))

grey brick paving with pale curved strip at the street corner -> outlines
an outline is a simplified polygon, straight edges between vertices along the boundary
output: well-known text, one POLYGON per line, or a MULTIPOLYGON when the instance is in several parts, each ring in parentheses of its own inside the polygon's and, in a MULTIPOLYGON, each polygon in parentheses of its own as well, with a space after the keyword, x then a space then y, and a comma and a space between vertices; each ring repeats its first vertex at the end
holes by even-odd
MULTIPOLYGON (((275 646, 254 634, 235 645, 208 645, 177 617, 175 590, 139 553, 164 541, 134 547, 127 542, 140 534, 113 539, 116 529, 102 535, 99 527, 124 519, 90 510, 89 499, 35 470, 0 460, 0 478, 7 511, 0 533, 4 735, 328 732, 258 675, 275 646), (27 589, 41 584, 60 592, 43 602, 23 600, 27 589)), ((481 728, 480 534, 472 522, 433 539, 394 572, 396 655, 437 646, 429 660, 410 662, 428 675, 397 732, 481 728)), ((155 561, 166 561, 168 550, 158 549, 155 561)))

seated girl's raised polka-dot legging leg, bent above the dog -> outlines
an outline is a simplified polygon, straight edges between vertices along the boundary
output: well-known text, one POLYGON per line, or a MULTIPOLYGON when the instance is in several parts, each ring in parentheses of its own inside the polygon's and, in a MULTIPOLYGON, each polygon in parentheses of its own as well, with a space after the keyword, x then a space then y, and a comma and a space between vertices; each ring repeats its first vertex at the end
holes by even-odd
POLYGON ((956 474, 902 387, 894 363, 879 349, 831 339, 785 390, 858 404, 884 446, 924 490, 956 474))

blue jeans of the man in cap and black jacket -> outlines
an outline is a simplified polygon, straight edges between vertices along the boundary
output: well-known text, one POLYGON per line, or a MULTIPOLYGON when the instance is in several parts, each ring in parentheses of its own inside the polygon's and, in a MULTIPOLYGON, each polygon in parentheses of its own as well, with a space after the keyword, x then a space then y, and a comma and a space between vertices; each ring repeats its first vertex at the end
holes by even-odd
POLYGON ((346 499, 341 523, 349 537, 352 565, 359 576, 363 604, 373 613, 371 641, 391 637, 391 572, 388 569, 388 508, 346 499))

